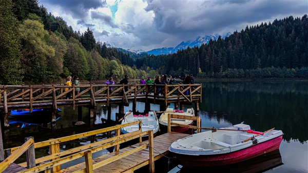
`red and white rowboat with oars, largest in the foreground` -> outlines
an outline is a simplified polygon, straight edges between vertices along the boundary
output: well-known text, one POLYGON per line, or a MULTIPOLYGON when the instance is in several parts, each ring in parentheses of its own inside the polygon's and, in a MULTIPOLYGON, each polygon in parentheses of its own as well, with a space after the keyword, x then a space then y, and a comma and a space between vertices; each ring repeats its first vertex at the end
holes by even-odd
POLYGON ((179 139, 169 151, 183 166, 228 165, 279 149, 282 135, 281 130, 256 132, 241 123, 179 139))

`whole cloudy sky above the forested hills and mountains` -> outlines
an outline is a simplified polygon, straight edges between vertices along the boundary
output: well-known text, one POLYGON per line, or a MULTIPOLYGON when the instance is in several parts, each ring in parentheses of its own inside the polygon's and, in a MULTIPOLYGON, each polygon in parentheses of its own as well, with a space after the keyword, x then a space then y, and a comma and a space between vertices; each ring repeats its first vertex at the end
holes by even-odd
POLYGON ((308 13, 307 0, 40 0, 81 33, 97 41, 145 51, 175 47, 197 36, 233 33, 247 25, 308 13))

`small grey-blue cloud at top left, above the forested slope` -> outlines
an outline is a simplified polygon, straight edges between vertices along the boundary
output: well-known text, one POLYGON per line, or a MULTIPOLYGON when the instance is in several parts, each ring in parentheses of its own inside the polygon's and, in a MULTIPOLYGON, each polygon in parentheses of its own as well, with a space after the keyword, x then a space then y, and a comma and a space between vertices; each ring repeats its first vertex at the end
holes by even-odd
POLYGON ((106 1, 86 1, 86 0, 48 0, 42 1, 50 5, 61 6, 63 11, 70 14, 74 18, 84 18, 89 9, 97 9, 99 7, 105 7, 106 1))

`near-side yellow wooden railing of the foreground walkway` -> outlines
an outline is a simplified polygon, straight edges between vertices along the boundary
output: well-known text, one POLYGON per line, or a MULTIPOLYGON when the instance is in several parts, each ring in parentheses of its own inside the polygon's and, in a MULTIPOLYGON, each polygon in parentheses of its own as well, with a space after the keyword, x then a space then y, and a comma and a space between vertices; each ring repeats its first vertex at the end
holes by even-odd
MULTIPOLYGON (((141 122, 136 121, 136 122, 141 122)), ((33 143, 32 143, 33 145, 33 143)), ((49 169, 53 169, 53 172, 57 172, 61 170, 61 165, 67 162, 70 162, 72 160, 76 160, 79 159, 81 157, 85 156, 85 168, 76 170, 74 172, 86 172, 86 173, 90 173, 93 172, 94 169, 97 169, 99 167, 102 167, 106 164, 109 164, 113 161, 117 161, 119 159, 122 159, 126 156, 132 155, 133 153, 136 153, 140 150, 149 148, 149 170, 150 172, 154 172, 154 151, 153 151, 153 131, 152 130, 148 130, 148 131, 144 131, 142 132, 141 129, 137 130, 137 131, 133 131, 130 133, 126 133, 126 134, 122 134, 120 136, 115 136, 112 138, 108 138, 106 140, 102 140, 102 141, 98 141, 98 142, 94 142, 94 143, 90 143, 84 146, 80 146, 80 147, 76 147, 76 148, 72 148, 66 151, 62 151, 59 153, 53 153, 53 155, 50 156, 46 156, 43 157, 45 161, 50 160, 50 162, 42 162, 43 160, 41 158, 36 159, 35 161, 40 161, 40 162, 36 162, 35 167, 31 167, 22 171, 19 171, 18 173, 25 173, 25 172, 40 172, 40 171, 47 171, 49 169), (142 136, 145 136, 146 134, 148 134, 148 144, 144 144, 141 145, 137 148, 133 148, 130 149, 128 151, 122 152, 117 156, 113 156, 111 158, 105 159, 101 162, 92 164, 92 153, 94 152, 98 152, 101 151, 103 149, 112 147, 112 146, 117 146, 121 143, 133 140, 133 139, 137 139, 140 138, 142 136), (40 160, 41 159, 41 160, 40 160)), ((20 164, 21 166, 24 166, 23 164, 20 164)))

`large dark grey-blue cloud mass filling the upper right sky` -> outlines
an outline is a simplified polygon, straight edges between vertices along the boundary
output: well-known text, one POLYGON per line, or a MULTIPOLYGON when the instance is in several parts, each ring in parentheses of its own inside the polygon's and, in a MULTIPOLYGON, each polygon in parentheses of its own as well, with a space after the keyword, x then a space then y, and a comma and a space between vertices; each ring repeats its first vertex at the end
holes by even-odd
POLYGON ((158 31, 189 37, 233 32, 245 25, 307 12, 304 1, 173 1, 172 6, 169 1, 147 3, 145 10, 155 13, 153 24, 158 31))

